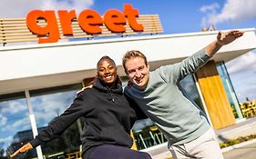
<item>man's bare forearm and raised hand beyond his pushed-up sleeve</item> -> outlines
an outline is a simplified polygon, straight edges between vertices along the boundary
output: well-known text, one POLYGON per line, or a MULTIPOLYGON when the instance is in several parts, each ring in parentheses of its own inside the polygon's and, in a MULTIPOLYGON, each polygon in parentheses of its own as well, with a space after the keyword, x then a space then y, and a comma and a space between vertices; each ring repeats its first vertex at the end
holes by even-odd
POLYGON ((228 33, 219 32, 217 35, 217 39, 214 42, 212 42, 210 45, 205 47, 205 52, 208 55, 213 56, 220 50, 220 47, 222 45, 228 45, 232 43, 234 40, 241 37, 243 33, 244 33, 243 31, 239 31, 239 30, 231 30, 228 33))

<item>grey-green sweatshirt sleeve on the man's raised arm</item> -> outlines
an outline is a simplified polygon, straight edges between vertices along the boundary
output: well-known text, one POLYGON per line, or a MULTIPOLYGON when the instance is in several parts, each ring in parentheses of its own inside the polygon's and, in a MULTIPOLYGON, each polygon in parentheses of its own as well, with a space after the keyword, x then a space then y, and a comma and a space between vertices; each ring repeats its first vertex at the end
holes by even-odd
POLYGON ((186 75, 194 74, 201 66, 210 60, 210 55, 201 49, 194 55, 191 55, 174 65, 161 66, 157 71, 159 75, 169 83, 178 84, 186 75))

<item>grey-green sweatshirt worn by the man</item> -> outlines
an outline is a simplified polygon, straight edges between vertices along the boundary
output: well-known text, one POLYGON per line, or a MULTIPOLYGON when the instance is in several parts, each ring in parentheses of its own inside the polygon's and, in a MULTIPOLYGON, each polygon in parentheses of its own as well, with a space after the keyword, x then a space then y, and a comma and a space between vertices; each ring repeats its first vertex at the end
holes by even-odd
POLYGON ((209 60, 210 56, 200 50, 180 63, 161 66, 150 72, 144 90, 135 85, 125 88, 125 94, 155 122, 169 145, 188 143, 210 129, 205 114, 179 88, 181 79, 195 73, 209 60))

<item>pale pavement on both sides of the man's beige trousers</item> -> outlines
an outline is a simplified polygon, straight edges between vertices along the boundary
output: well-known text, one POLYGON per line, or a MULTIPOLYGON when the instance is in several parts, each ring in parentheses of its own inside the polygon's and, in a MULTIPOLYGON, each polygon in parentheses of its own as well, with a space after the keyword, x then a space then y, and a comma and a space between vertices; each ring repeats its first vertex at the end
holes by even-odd
MULTIPOLYGON (((236 124, 215 131, 220 143, 235 139, 240 136, 256 134, 256 116, 242 119, 236 124)), ((167 143, 142 150, 151 154, 153 159, 170 159, 171 154, 167 149, 167 143)), ((224 159, 256 159, 256 139, 235 144, 221 149, 224 159)))

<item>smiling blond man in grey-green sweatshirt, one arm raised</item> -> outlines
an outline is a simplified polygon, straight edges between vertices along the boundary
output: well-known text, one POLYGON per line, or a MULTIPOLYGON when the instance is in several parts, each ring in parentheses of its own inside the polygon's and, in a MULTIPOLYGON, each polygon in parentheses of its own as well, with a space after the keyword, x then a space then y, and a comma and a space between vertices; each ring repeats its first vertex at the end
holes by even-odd
POLYGON ((220 146, 203 112, 179 88, 179 81, 195 73, 215 55, 222 45, 228 45, 244 32, 219 32, 217 40, 175 65, 161 66, 149 72, 145 55, 128 51, 123 66, 129 83, 125 94, 155 122, 168 139, 174 158, 223 158, 220 146))

